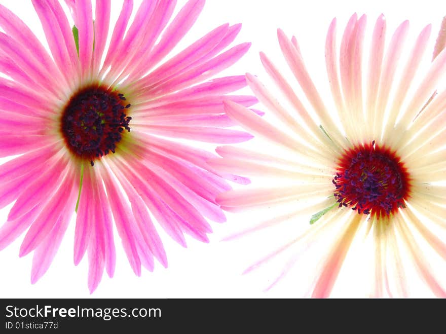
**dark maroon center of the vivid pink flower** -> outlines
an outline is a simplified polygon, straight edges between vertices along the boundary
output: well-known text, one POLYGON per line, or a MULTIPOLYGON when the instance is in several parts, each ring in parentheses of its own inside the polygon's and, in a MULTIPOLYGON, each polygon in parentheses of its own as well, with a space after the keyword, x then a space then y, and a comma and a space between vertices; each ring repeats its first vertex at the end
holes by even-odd
POLYGON ((83 159, 94 160, 115 153, 123 131, 130 131, 132 119, 124 94, 103 86, 90 86, 74 94, 62 115, 62 133, 70 151, 83 159))

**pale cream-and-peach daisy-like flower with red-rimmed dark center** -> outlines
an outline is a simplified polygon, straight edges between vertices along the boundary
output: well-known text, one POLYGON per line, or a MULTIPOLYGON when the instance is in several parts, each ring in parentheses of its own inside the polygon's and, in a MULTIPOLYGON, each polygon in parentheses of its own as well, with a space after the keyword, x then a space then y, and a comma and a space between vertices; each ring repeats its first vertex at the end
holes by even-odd
POLYGON ((262 147, 274 153, 219 147, 222 158, 209 162, 212 167, 262 177, 264 187, 232 190, 217 202, 228 211, 263 210, 265 221, 236 236, 263 231, 262 251, 281 241, 247 270, 283 259, 283 271, 269 287, 298 263, 300 276, 308 277, 309 291, 303 293, 314 297, 329 296, 338 283, 345 296, 368 281, 372 296, 411 295, 421 281, 444 297, 440 267, 432 266, 436 257, 442 257, 442 266, 446 259, 446 243, 439 237, 446 216, 446 91, 433 94, 446 72, 446 51, 437 47, 431 64, 423 57, 429 25, 402 57, 408 22, 396 29, 386 48, 386 21, 380 16, 365 54, 366 17, 355 14, 338 55, 336 24, 334 19, 325 44, 331 101, 319 94, 297 40, 279 30, 280 48, 303 94, 295 93, 261 53, 284 104, 249 74, 248 84, 270 110, 271 122, 268 115, 260 118, 226 102, 230 117, 265 139, 262 147), (429 66, 425 72, 419 70, 422 61, 429 66))

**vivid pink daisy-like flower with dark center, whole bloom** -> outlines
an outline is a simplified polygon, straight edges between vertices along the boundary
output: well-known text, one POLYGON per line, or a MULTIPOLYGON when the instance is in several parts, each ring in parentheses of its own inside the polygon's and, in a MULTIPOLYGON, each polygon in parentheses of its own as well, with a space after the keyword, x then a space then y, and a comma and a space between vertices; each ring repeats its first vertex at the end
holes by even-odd
POLYGON ((94 10, 90 0, 66 3, 73 29, 59 2, 32 1, 51 55, 0 5, 0 69, 9 76, 0 78, 0 156, 20 155, 0 166, 0 207, 15 201, 0 249, 28 230, 20 256, 34 251, 36 282, 77 210, 74 262, 88 253, 92 292, 104 269, 110 277, 115 271, 112 217, 136 275, 141 265, 152 271, 154 258, 167 266, 153 218, 184 247, 184 233, 208 242, 206 218, 226 219, 215 203, 230 189, 225 179, 248 180, 216 173, 205 163, 214 155, 174 139, 250 139, 228 129, 234 123, 221 102, 256 99, 226 95, 246 85, 244 76, 209 80, 248 50, 243 43, 224 51, 240 24, 218 26, 170 55, 204 0, 190 0, 172 20, 175 1, 143 1, 133 22, 133 1, 125 1, 113 32, 110 0, 94 10))

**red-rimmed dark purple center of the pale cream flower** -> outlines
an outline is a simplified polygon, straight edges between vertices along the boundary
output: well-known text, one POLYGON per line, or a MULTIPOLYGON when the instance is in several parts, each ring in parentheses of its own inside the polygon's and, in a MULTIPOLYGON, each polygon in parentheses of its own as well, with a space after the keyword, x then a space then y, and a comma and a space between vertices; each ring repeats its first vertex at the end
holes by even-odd
POLYGON ((410 177, 399 157, 375 141, 346 151, 332 182, 339 207, 378 218, 405 207, 410 190, 410 177))

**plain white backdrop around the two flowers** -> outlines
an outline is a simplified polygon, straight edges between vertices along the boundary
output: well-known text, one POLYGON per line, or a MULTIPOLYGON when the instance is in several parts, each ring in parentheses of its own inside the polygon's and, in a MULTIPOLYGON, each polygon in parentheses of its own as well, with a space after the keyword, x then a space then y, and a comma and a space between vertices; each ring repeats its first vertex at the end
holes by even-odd
MULTIPOLYGON (((0 3, 18 14, 39 36, 44 45, 40 22, 28 0, 0 0, 0 3)), ((119 15, 121 1, 113 1, 114 15, 119 15)), ((185 3, 178 0, 178 7, 185 3)), ((135 6, 136 8, 136 6, 135 6)), ((327 87, 325 79, 324 45, 325 34, 333 17, 338 18, 338 40, 342 29, 353 12, 367 14, 367 35, 374 21, 384 13, 390 33, 403 20, 411 22, 413 41, 415 34, 425 25, 432 23, 432 42, 439 29, 442 16, 446 15, 444 1, 291 1, 291 0, 208 0, 196 25, 183 41, 182 46, 195 41, 217 25, 242 22, 243 28, 237 42, 252 42, 249 53, 225 75, 243 74, 246 71, 265 79, 265 71, 258 59, 258 52, 265 51, 281 69, 285 69, 283 57, 276 38, 276 29, 281 27, 289 36, 294 34, 300 43, 311 75, 316 83, 327 87)), ((432 46, 432 45, 431 45, 432 46)), ((431 52, 432 48, 428 50, 431 52)), ((247 91, 246 91, 247 92, 247 91)), ((258 106, 261 108, 261 106, 258 106)), ((254 143, 255 144, 255 143, 254 143)), ((210 147, 210 146, 208 146, 210 147)), ((258 185, 259 183, 257 183, 258 185)), ((6 221, 8 206, 0 210, 0 224, 6 221)), ((268 286, 262 275, 251 273, 241 275, 243 270, 263 254, 265 239, 255 238, 237 242, 220 242, 222 238, 243 228, 249 222, 259 219, 258 215, 228 215, 226 224, 212 224, 210 244, 201 244, 188 238, 184 249, 162 235, 167 251, 169 268, 158 263, 154 273, 143 270, 136 277, 122 251, 119 237, 115 233, 117 266, 113 279, 104 274, 102 282, 91 298, 270 298, 299 296, 293 287, 299 285, 299 275, 284 280, 277 288, 263 292, 268 286), (248 218, 249 217, 249 218, 248 218)), ((75 220, 72 220, 62 245, 45 276, 36 284, 30 284, 32 255, 18 257, 20 237, 7 249, 0 252, 0 297, 1 298, 88 298, 87 258, 78 267, 72 263, 73 234, 75 220)), ((305 221, 296 224, 308 224, 305 221)), ((274 239, 271 235, 271 239, 274 239)), ((268 239, 266 240, 268 242, 268 239)), ((273 268, 278 270, 280 268, 273 268)), ((302 274, 302 273, 301 273, 302 274)), ((305 275, 305 273, 303 273, 305 275)), ((303 276, 301 275, 301 276, 303 276)), ((275 275, 273 275, 275 276, 275 275)))

